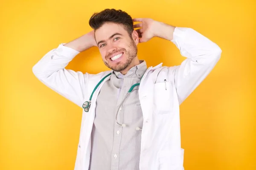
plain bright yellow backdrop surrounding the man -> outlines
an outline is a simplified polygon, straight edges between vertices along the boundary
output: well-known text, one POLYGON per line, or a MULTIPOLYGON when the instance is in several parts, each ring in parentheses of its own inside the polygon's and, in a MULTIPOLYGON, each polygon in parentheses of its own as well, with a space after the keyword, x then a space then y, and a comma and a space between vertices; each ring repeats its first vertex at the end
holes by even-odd
MULTIPOLYGON (((52 48, 91 30, 105 8, 190 27, 216 42, 221 59, 180 106, 185 170, 256 170, 255 0, 7 0, 0 6, 0 170, 72 170, 82 110, 43 85, 32 67, 52 48)), ((179 65, 172 42, 139 44, 148 67, 179 65)), ((97 48, 67 66, 108 70, 97 48)))

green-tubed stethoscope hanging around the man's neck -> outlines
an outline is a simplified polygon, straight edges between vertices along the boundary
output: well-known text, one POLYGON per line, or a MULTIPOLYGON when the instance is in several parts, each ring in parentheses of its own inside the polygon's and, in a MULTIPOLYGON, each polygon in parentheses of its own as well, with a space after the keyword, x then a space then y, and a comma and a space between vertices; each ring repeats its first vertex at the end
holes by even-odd
MULTIPOLYGON (((95 88, 93 89, 92 94, 90 95, 89 101, 86 101, 86 102, 83 103, 82 108, 84 108, 84 111, 85 111, 85 112, 89 112, 90 105, 91 105, 91 99, 92 99, 93 94, 94 94, 94 92, 96 91, 96 89, 97 89, 97 88, 99 87, 99 85, 104 81, 104 79, 106 79, 107 77, 109 77, 111 74, 112 74, 112 73, 106 75, 105 77, 103 77, 103 78, 98 82, 98 84, 97 84, 97 85, 95 86, 95 88)), ((125 101, 125 99, 127 98, 127 96, 131 93, 131 91, 132 91, 132 90, 134 89, 134 87, 136 87, 137 85, 140 85, 140 83, 136 83, 136 84, 134 84, 134 85, 131 86, 131 88, 129 89, 128 93, 125 95, 125 98, 123 99, 122 103, 120 104, 120 106, 123 104, 123 102, 125 101)), ((120 106, 119 106, 119 108, 120 108, 120 106)), ((122 127, 126 127, 125 124, 123 124, 123 123, 120 124, 120 123, 117 121, 117 114, 118 114, 119 108, 117 109, 117 112, 116 112, 116 123, 117 123, 118 125, 122 126, 122 127)), ((140 127, 136 127, 136 130, 142 130, 142 129, 140 129, 140 127)))

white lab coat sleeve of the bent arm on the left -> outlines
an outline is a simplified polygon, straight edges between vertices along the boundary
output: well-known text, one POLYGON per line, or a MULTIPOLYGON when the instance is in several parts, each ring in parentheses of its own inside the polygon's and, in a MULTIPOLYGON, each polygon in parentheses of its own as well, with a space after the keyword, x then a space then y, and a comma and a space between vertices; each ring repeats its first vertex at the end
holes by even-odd
POLYGON ((35 77, 58 94, 80 107, 87 93, 87 81, 90 74, 65 69, 67 64, 80 52, 58 45, 44 55, 32 68, 35 77))

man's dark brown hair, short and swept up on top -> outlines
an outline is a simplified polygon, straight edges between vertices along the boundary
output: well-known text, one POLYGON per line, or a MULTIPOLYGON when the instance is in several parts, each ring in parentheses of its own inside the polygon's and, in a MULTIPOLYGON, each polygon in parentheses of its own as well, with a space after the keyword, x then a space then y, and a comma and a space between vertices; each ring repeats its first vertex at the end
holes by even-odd
POLYGON ((99 13, 94 13, 89 20, 89 25, 94 30, 100 28, 104 23, 120 24, 126 29, 130 36, 134 30, 131 16, 120 9, 105 9, 99 13))

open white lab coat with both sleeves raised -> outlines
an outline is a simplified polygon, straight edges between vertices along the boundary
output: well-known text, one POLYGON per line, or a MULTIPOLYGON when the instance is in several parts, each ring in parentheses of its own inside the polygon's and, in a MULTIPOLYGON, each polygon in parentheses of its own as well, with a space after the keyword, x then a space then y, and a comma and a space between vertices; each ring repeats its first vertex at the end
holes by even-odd
MULTIPOLYGON (((186 59, 178 66, 166 67, 161 63, 149 67, 140 82, 143 111, 140 170, 184 170, 179 105, 207 77, 221 56, 218 45, 192 28, 176 27, 172 42, 186 59)), ((65 69, 79 51, 63 45, 45 54, 32 70, 49 88, 82 107, 96 84, 111 71, 83 74, 65 69)), ((104 82, 93 95, 90 111, 82 111, 75 170, 89 167, 96 98, 104 82)))

